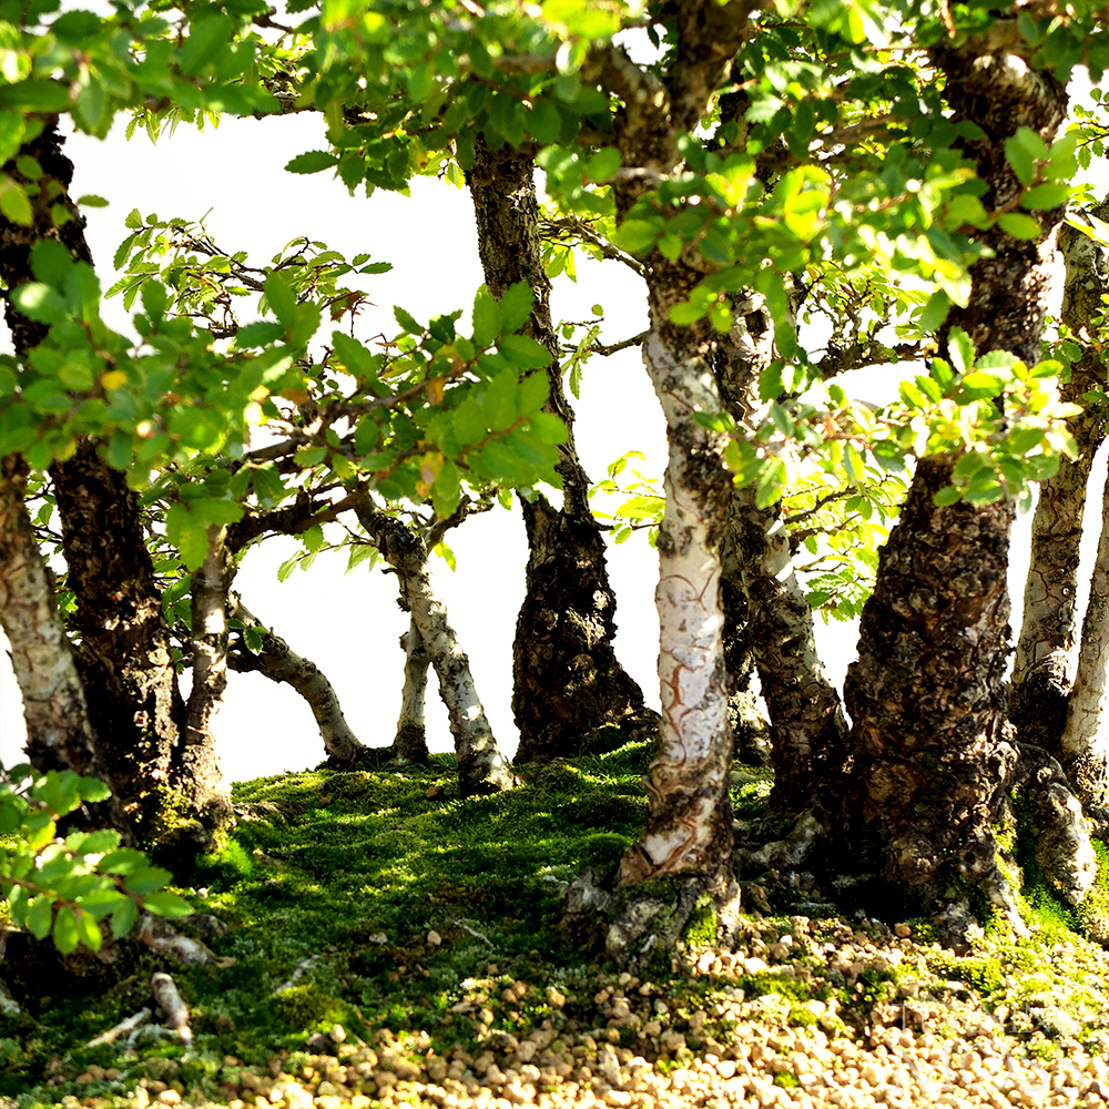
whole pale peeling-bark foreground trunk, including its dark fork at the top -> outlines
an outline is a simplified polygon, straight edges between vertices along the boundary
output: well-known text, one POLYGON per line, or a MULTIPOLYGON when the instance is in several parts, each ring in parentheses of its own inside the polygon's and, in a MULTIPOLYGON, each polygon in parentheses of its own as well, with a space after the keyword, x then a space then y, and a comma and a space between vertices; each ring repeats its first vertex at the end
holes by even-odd
MULTIPOLYGON (((660 175, 680 164, 678 135, 692 133, 725 82, 755 4, 733 0, 681 3, 676 49, 662 77, 635 65, 620 48, 591 52, 582 79, 622 101, 612 141, 622 167, 614 179, 618 215, 629 212, 660 175)), ((667 506, 659 529, 659 682, 662 723, 658 755, 644 785, 650 815, 620 862, 623 885, 652 875, 698 875, 714 882, 719 903, 731 888, 732 807, 729 772, 721 542, 731 495, 723 437, 698 413, 719 413, 711 359, 714 336, 704 324, 678 327, 671 307, 701 274, 658 254, 647 269, 650 330, 643 362, 667 418, 667 506)))

